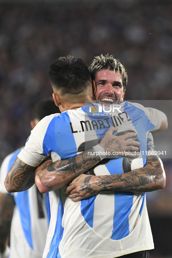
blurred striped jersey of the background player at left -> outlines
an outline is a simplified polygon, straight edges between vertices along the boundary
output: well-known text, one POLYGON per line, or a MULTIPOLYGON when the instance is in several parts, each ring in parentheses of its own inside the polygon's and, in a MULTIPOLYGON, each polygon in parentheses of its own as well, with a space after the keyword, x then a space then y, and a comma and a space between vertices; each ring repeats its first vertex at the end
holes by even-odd
MULTIPOLYGON (((2 193, 8 193, 4 181, 21 149, 8 155, 1 165, 2 193)), ((48 195, 42 195, 36 184, 29 190, 8 194, 13 195, 16 204, 10 229, 9 258, 42 258, 49 225, 48 195)))

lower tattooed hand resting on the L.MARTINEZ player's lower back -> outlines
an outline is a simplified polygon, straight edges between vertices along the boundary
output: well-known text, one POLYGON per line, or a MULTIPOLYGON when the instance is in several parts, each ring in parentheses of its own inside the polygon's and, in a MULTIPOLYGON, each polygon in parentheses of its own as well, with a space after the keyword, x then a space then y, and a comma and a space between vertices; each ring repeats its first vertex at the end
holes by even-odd
POLYGON ((96 176, 79 175, 66 188, 65 192, 73 202, 94 196, 101 191, 101 188, 98 189, 96 182, 92 184, 92 177, 95 179, 96 176))

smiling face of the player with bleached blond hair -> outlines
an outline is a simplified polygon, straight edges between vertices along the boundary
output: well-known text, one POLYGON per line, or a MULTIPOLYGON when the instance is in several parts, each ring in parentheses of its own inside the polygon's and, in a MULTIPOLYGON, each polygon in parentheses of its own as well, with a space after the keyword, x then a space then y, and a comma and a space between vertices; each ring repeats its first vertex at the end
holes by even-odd
MULTIPOLYGON (((97 91, 95 98, 101 100, 103 104, 112 104, 115 100, 123 100, 125 90, 123 91, 122 76, 118 71, 100 70, 95 75, 97 91)), ((117 102, 116 102, 117 103, 117 102)))

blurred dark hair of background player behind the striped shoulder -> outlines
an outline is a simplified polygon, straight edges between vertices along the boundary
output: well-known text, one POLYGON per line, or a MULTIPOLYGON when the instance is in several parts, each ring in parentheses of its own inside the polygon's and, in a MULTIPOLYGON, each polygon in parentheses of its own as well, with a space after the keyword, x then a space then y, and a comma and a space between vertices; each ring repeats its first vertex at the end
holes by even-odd
POLYGON ((32 110, 32 119, 41 120, 47 115, 61 113, 52 98, 39 101, 32 110))

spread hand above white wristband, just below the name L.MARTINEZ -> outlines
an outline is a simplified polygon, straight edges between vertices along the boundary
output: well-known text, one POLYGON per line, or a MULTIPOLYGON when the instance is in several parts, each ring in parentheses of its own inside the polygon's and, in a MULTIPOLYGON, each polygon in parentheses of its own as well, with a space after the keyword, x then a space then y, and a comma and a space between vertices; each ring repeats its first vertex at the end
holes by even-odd
MULTIPOLYGON (((105 151, 110 152, 111 154, 107 156, 107 158, 118 158, 121 156, 125 156, 125 152, 129 153, 138 151, 139 148, 137 146, 140 145, 139 142, 134 140, 126 140, 128 138, 136 136, 136 133, 127 133, 123 134, 121 136, 114 136, 113 133, 116 131, 116 128, 109 127, 107 133, 105 134, 104 138, 101 140, 101 143, 99 143, 100 146, 104 148, 105 151), (120 152, 120 153, 119 153, 120 152), (114 155, 114 154, 120 154, 120 155, 114 155)), ((126 155, 126 157, 134 158, 136 155, 126 155)))

